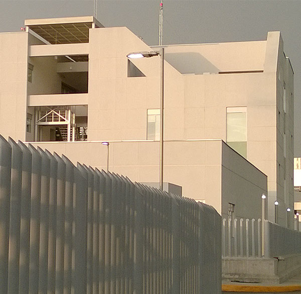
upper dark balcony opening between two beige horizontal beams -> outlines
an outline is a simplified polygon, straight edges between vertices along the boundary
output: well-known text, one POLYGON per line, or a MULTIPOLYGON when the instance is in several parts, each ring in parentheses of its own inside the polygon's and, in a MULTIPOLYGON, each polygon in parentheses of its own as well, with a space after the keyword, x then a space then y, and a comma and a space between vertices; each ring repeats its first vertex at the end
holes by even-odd
POLYGON ((29 95, 88 92, 88 55, 30 57, 29 95))

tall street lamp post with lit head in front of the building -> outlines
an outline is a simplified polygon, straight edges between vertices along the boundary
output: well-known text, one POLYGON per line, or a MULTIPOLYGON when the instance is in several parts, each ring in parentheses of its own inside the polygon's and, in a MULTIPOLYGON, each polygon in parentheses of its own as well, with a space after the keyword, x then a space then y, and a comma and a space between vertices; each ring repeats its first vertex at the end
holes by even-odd
POLYGON ((132 52, 126 55, 127 58, 161 57, 160 73, 160 189, 163 190, 163 147, 164 147, 164 48, 159 51, 132 52))

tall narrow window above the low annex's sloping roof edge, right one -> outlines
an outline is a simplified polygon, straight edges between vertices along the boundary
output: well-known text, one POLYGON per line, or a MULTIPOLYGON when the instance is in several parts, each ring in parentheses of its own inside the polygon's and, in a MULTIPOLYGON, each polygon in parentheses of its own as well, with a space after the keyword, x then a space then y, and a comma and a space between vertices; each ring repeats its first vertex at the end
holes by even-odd
POLYGON ((247 157, 246 107, 227 107, 227 144, 247 157))

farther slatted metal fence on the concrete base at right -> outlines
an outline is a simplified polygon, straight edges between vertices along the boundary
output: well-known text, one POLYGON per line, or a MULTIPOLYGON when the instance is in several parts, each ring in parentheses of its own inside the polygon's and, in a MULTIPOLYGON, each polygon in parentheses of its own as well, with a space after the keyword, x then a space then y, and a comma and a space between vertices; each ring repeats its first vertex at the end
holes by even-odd
MULTIPOLYGON (((301 232, 264 221, 264 257, 301 252, 301 232)), ((223 219, 222 257, 262 257, 261 220, 223 219)))

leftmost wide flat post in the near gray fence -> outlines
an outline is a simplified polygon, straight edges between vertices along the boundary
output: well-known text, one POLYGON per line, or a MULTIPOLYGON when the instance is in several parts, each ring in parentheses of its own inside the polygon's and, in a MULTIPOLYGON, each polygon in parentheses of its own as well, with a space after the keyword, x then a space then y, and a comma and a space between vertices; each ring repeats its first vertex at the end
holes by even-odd
POLYGON ((77 164, 74 170, 75 179, 75 237, 74 250, 74 275, 72 289, 74 294, 87 292, 87 190, 88 179, 84 168, 77 164))

